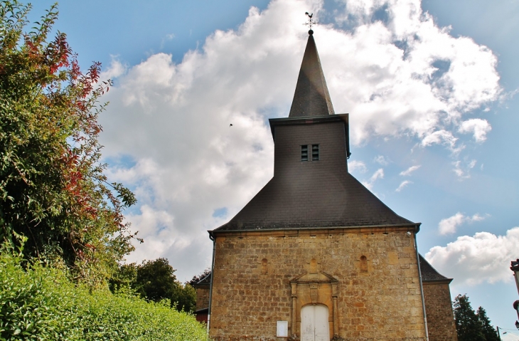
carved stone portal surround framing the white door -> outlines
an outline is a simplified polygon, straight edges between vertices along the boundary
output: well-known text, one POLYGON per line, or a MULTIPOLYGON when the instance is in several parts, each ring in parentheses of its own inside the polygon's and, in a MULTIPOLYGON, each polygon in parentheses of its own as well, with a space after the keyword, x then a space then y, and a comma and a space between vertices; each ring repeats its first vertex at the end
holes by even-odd
MULTIPOLYGON (((311 268, 314 270, 313 268, 311 268)), ((291 286, 291 335, 301 336, 301 308, 305 305, 326 305, 330 335, 338 335, 338 280, 324 271, 303 273, 290 281, 291 286)))

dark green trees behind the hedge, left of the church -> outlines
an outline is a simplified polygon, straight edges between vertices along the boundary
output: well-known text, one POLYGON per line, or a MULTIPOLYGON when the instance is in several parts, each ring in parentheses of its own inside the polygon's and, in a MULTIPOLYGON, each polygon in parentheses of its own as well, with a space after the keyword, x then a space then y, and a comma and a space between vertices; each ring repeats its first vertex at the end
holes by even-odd
MULTIPOLYGON (((134 266, 134 265, 130 265, 134 266)), ((121 267, 119 272, 129 270, 121 267)), ((126 266, 128 267, 128 266, 126 266)), ((174 274, 175 270, 166 258, 155 261, 143 261, 136 267, 137 277, 130 286, 146 300, 159 302, 164 299, 171 301, 179 311, 193 312, 196 305, 196 291, 191 285, 182 285, 174 274)))

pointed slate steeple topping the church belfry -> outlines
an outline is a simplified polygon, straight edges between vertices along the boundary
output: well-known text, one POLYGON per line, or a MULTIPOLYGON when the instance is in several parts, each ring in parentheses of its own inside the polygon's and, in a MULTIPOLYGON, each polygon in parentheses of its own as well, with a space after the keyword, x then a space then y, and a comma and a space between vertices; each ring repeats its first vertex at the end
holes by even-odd
POLYGON ((335 113, 317 53, 314 31, 310 30, 308 33, 289 117, 324 116, 335 113))

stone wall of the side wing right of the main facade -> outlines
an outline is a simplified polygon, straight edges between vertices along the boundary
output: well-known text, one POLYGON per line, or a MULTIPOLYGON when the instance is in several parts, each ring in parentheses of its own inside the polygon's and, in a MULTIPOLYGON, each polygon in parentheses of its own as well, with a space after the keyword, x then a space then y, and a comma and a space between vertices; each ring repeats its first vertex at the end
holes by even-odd
POLYGON ((458 340, 449 283, 424 282, 424 298, 429 341, 458 340))

